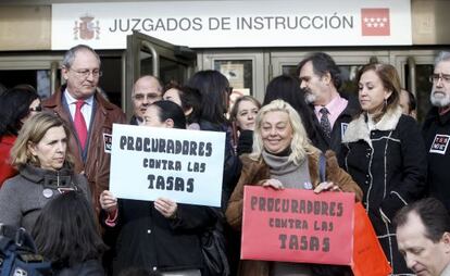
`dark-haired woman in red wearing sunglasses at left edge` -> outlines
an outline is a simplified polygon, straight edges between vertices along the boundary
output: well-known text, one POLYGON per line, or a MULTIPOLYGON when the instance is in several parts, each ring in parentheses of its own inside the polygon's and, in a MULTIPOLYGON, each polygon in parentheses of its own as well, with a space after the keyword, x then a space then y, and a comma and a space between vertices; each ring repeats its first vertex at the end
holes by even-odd
POLYGON ((29 85, 16 86, 0 96, 0 187, 17 174, 9 162, 11 148, 22 125, 39 111, 39 96, 29 85))

